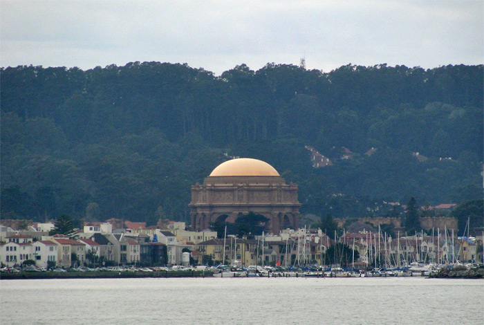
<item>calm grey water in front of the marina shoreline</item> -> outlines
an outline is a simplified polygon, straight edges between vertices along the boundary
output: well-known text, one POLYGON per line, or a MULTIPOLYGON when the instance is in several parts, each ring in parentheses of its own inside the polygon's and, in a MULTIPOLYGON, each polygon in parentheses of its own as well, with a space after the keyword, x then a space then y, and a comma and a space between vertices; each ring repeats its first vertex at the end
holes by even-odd
POLYGON ((484 324, 484 280, 0 281, 8 324, 484 324))

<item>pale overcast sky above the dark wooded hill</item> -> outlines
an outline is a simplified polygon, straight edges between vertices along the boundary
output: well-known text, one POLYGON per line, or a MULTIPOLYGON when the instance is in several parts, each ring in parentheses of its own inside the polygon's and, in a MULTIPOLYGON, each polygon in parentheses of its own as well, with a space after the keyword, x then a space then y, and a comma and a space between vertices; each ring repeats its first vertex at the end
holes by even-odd
POLYGON ((0 0, 0 66, 484 64, 484 0, 0 0))

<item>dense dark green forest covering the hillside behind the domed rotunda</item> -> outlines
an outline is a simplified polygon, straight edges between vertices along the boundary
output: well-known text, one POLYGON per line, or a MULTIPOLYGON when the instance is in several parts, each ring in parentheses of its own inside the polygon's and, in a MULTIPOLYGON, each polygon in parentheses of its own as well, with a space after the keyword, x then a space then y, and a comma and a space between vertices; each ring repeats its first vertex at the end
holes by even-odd
POLYGON ((267 161, 299 185, 301 212, 318 216, 385 215, 384 202, 411 196, 482 198, 482 65, 242 64, 216 76, 134 62, 0 73, 3 218, 153 223, 161 209, 188 221, 190 186, 224 154, 267 161), (355 156, 314 169, 304 145, 355 156))

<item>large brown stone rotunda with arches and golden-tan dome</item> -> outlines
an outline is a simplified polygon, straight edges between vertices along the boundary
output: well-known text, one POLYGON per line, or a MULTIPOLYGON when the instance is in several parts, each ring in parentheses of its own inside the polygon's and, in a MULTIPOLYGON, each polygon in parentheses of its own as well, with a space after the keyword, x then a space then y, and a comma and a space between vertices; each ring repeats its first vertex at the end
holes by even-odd
POLYGON ((274 167, 251 158, 218 165, 202 185, 192 186, 189 204, 194 230, 254 212, 268 219, 266 230, 273 234, 298 228, 299 206, 297 185, 287 185, 274 167))

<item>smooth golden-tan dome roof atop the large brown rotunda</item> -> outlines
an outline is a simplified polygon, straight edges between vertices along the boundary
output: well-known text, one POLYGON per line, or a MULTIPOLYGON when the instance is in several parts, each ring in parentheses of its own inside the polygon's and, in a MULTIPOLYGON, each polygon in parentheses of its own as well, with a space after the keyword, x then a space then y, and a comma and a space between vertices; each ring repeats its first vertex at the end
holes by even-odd
POLYGON ((210 176, 280 176, 274 167, 262 160, 239 158, 218 165, 210 176))

